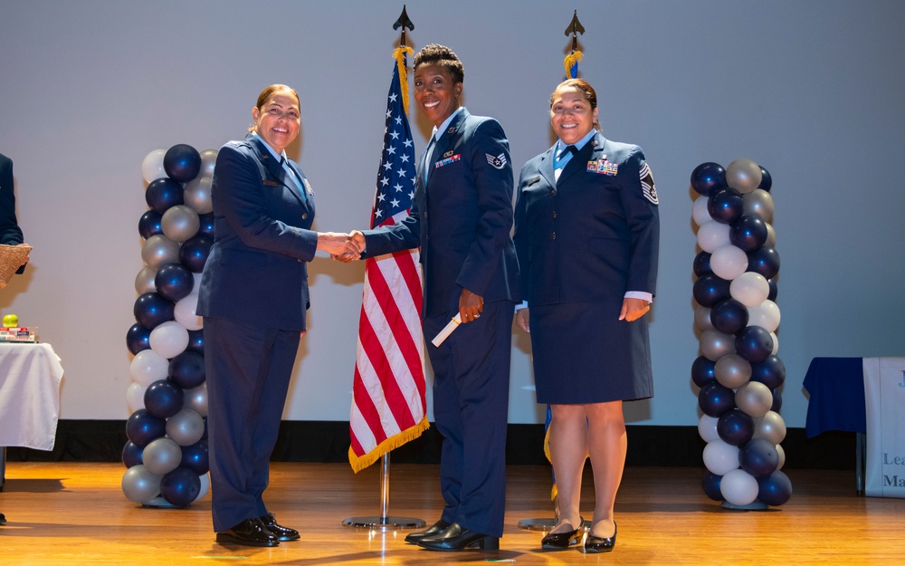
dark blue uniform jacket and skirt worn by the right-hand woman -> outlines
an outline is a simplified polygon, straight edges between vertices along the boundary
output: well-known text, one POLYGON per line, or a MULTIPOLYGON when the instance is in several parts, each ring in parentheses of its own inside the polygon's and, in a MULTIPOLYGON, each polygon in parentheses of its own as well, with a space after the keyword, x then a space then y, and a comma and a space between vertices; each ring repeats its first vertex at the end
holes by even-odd
POLYGON ((538 403, 651 397, 647 317, 618 319, 626 292, 655 293, 653 175, 641 148, 597 132, 557 180, 554 148, 522 168, 515 212, 538 403))

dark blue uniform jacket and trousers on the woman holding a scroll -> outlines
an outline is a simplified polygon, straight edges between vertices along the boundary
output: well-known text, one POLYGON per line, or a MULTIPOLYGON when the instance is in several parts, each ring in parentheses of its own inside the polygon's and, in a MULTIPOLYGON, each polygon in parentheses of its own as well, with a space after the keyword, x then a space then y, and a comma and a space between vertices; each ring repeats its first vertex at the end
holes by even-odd
POLYGON ((434 417, 443 434, 443 520, 501 536, 513 303, 512 165, 497 120, 462 108, 436 142, 424 185, 420 158, 411 216, 366 235, 367 255, 421 246, 424 337, 434 417), (430 343, 459 311, 462 289, 481 295, 481 318, 439 348, 430 343))

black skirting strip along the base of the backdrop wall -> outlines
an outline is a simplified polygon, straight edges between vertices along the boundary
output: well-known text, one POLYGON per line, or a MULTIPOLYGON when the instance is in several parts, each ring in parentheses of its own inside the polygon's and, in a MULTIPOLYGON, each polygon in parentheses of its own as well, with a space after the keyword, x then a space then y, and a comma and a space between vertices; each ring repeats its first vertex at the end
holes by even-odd
MULTIPOLYGON (((629 425, 626 465, 701 467, 704 441, 698 427, 629 425)), ((125 446, 125 420, 61 420, 51 452, 9 447, 7 462, 116 462, 125 446)), ((510 425, 506 463, 546 465, 543 425, 510 425)), ((348 461, 348 422, 283 421, 272 460, 277 462, 348 461)), ((392 462, 438 464, 441 436, 431 428, 393 451, 392 462)), ((854 433, 825 432, 814 438, 804 428, 789 428, 782 443, 786 468, 854 469, 854 433)))

